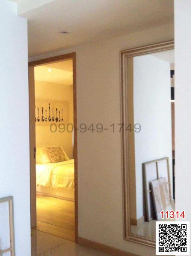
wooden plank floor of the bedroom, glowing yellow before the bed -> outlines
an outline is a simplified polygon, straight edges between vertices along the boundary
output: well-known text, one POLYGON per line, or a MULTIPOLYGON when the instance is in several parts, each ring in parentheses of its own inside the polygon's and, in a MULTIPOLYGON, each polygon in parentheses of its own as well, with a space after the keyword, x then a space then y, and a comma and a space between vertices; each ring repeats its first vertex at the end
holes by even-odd
POLYGON ((74 242, 74 202, 38 195, 35 229, 74 242))

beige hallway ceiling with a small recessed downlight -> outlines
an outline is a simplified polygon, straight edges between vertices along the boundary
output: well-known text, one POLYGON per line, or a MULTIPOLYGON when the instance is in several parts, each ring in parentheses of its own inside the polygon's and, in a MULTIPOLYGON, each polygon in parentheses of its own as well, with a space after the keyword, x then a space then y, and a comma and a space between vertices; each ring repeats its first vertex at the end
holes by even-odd
POLYGON ((173 0, 28 0, 33 9, 20 1, 29 56, 173 23, 173 0))

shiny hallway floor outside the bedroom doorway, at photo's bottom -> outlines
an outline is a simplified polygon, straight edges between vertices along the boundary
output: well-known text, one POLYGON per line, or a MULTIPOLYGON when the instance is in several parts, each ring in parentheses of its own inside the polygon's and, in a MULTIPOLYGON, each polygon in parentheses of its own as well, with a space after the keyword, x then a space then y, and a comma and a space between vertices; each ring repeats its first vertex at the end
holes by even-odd
POLYGON ((32 256, 109 256, 54 235, 32 229, 32 256))

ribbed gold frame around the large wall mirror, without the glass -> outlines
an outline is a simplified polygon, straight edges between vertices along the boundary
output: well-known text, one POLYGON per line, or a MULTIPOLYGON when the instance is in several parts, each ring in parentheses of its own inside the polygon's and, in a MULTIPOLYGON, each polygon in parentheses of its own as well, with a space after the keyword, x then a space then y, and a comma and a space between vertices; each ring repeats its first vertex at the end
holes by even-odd
MULTIPOLYGON (((166 51, 174 49, 174 41, 167 41, 159 44, 138 47, 129 50, 120 51, 120 84, 121 84, 121 123, 128 126, 128 58, 150 54, 157 51, 166 51)), ((122 140, 122 185, 123 185, 123 238, 139 244, 156 247, 156 241, 153 238, 144 237, 131 233, 130 223, 130 179, 129 179, 129 133, 124 129, 121 133, 122 140)))

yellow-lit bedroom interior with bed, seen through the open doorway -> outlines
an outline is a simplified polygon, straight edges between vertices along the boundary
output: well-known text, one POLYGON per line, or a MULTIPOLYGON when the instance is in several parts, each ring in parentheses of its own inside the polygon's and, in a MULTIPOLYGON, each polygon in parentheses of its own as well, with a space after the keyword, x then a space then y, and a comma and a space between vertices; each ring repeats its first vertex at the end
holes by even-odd
POLYGON ((36 230, 75 240, 72 59, 35 66, 36 230))

